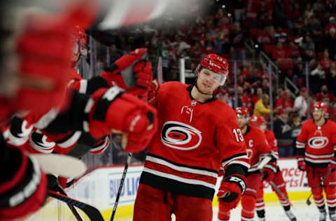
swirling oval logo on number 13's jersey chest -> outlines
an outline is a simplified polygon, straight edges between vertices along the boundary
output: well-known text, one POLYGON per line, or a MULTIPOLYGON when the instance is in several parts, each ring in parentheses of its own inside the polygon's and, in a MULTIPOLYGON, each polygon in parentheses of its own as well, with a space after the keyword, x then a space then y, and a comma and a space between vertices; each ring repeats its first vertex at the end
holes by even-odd
POLYGON ((202 132, 188 124, 167 121, 163 124, 161 141, 169 148, 193 150, 202 142, 202 132))

